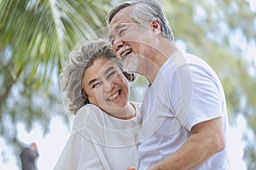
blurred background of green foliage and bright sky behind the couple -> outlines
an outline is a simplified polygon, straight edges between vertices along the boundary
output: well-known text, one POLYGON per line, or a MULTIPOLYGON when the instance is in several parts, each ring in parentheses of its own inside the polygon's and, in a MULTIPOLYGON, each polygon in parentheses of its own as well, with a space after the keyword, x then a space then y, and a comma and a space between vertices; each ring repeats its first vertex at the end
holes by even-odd
MULTIPOLYGON (((20 150, 38 144, 38 169, 53 169, 73 116, 59 74, 76 43, 108 37, 119 0, 0 0, 0 169, 20 169, 20 150)), ((256 1, 161 0, 180 48, 201 56, 223 82, 231 169, 256 169, 256 1)), ((131 99, 147 81, 137 77, 131 99)))

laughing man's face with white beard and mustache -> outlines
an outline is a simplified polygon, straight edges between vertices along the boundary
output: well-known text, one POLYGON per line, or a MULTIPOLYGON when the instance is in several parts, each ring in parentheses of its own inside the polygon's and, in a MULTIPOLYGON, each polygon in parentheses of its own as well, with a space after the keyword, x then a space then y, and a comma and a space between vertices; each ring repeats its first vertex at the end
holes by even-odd
POLYGON ((130 18, 130 7, 121 9, 109 25, 109 40, 114 54, 122 61, 125 71, 137 72, 139 57, 147 57, 152 31, 130 18), (148 43, 149 42, 149 43, 148 43))

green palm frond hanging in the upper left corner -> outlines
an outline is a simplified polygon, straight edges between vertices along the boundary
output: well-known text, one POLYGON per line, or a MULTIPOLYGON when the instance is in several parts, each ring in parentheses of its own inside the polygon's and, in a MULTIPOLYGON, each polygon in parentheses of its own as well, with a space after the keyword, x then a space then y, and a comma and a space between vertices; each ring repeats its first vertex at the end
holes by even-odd
POLYGON ((74 44, 89 39, 105 26, 108 3, 95 1, 1 1, 1 42, 10 48, 15 72, 28 74, 37 89, 49 84, 50 74, 74 44))

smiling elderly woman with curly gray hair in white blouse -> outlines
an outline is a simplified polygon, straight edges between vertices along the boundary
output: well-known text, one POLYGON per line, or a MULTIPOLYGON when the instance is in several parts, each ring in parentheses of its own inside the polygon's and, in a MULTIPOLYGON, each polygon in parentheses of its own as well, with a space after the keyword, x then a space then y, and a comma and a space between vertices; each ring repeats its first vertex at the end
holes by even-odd
POLYGON ((73 50, 61 82, 75 120, 55 169, 138 167, 140 104, 128 101, 128 79, 134 75, 122 71, 108 41, 83 42, 73 50))

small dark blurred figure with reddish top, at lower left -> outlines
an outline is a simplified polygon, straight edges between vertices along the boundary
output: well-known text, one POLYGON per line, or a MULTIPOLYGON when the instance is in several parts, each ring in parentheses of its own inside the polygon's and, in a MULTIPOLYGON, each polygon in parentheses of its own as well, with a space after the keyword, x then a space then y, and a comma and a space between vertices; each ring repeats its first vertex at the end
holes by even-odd
POLYGON ((29 148, 24 148, 20 153, 22 170, 35 170, 35 160, 38 156, 38 146, 36 143, 33 142, 29 148))

